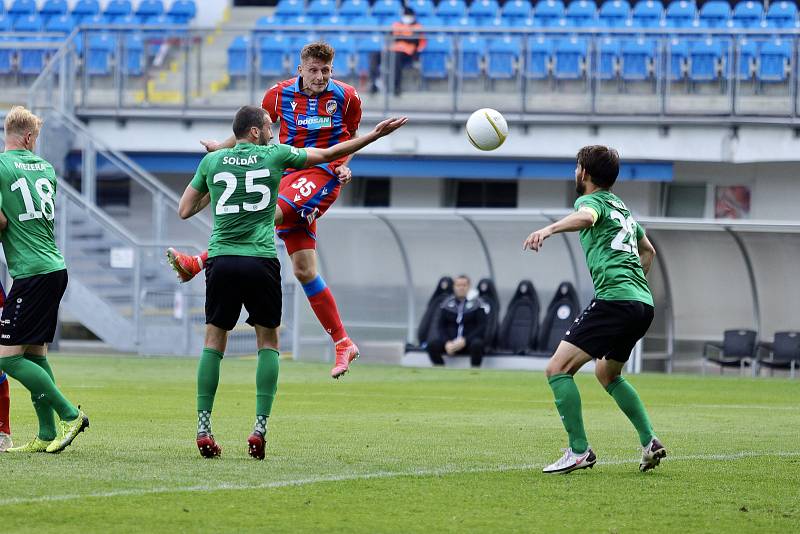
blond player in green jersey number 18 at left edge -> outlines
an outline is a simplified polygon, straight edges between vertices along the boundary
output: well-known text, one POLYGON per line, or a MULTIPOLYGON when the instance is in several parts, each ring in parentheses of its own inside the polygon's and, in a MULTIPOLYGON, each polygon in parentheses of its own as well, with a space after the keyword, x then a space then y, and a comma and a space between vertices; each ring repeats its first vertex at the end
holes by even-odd
POLYGON ((55 171, 33 153, 41 126, 27 109, 11 109, 5 120, 6 149, 0 154, 0 230, 14 279, 3 308, 0 369, 31 392, 39 418, 36 437, 8 452, 60 452, 89 426, 86 414, 56 387, 47 362, 67 269, 53 232, 55 171))

